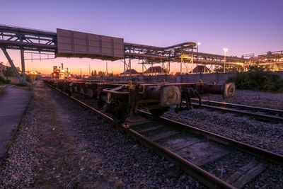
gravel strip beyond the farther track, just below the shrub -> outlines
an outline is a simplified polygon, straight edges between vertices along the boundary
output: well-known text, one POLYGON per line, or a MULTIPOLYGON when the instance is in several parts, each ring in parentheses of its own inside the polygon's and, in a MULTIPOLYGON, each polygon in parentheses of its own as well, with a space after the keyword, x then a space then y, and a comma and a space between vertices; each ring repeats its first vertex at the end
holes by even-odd
MULTIPOLYGON (((238 103, 243 105, 253 105, 263 108, 273 108, 283 110, 283 94, 282 93, 265 93, 259 91, 243 91, 236 90, 233 98, 223 99, 220 95, 209 97, 211 101, 221 101, 226 103, 238 103)), ((203 98, 207 100, 207 97, 203 98)))

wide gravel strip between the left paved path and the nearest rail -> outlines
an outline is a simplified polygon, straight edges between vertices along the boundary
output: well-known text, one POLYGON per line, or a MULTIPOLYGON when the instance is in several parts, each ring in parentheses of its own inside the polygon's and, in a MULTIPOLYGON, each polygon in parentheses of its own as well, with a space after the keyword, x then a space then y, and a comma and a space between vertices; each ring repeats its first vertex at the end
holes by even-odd
POLYGON ((0 188, 204 188, 42 82, 0 171, 0 188))

